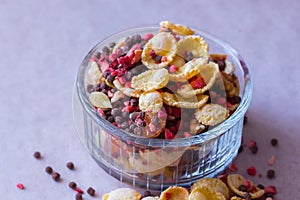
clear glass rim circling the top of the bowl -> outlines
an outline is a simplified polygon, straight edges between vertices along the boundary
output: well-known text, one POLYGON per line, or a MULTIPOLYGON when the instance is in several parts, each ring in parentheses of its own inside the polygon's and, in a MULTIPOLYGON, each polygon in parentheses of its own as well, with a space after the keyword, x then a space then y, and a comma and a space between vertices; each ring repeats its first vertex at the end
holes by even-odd
MULTIPOLYGON (((119 129, 118 127, 112 125, 110 122, 108 122, 106 119, 100 117, 97 114, 97 111, 94 109, 94 107, 91 105, 88 97, 85 95, 85 92, 83 91, 85 88, 84 84, 84 70, 86 66, 88 65, 91 56, 93 53, 99 49, 99 46, 108 44, 108 41, 112 38, 120 39, 122 37, 126 37, 128 35, 133 33, 140 33, 140 32, 154 32, 158 31, 159 26, 143 26, 143 27, 135 27, 130 28, 127 30, 123 30, 117 33, 114 33, 100 42, 98 42, 84 57, 82 60, 79 70, 77 72, 75 87, 76 87, 76 93, 79 97, 80 103, 84 108, 84 111, 86 111, 91 117, 91 119, 96 122, 101 128, 105 129, 106 132, 108 132, 110 135, 117 137, 118 139, 134 143, 135 145, 143 145, 143 146, 151 146, 151 147, 188 147, 192 145, 201 145, 204 143, 207 143, 211 140, 214 140, 218 136, 226 133, 228 129, 230 129, 232 126, 234 126, 238 120, 241 119, 241 117, 244 117, 244 114, 246 113, 250 102, 252 98, 252 80, 251 80, 251 73, 248 67, 245 64, 244 59, 240 56, 240 54, 231 47, 228 43, 224 42, 223 40, 215 37, 214 35, 203 31, 194 29, 196 35, 200 35, 201 37, 204 37, 205 39, 209 39, 213 42, 215 42, 217 45, 220 45, 222 48, 226 49, 226 53, 229 53, 228 56, 230 56, 231 59, 235 60, 235 63, 238 64, 238 67, 241 68, 241 71, 244 73, 244 88, 243 89, 243 95, 242 100, 240 102, 240 105, 237 107, 235 112, 225 121, 218 124, 216 127, 213 127, 209 130, 207 130, 204 133, 194 135, 188 138, 174 138, 174 139, 158 139, 158 138, 147 138, 142 136, 137 136, 134 134, 130 134, 122 129, 119 129)), ((237 66, 235 66, 237 67, 237 66)))

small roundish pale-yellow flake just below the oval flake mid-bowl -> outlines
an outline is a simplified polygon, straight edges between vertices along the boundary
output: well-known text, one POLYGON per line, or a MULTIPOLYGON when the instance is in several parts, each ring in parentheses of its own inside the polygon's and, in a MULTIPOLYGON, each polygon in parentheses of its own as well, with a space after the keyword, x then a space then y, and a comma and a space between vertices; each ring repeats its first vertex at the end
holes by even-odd
POLYGON ((139 107, 144 112, 157 113, 163 106, 163 100, 159 92, 142 93, 139 99, 139 107))

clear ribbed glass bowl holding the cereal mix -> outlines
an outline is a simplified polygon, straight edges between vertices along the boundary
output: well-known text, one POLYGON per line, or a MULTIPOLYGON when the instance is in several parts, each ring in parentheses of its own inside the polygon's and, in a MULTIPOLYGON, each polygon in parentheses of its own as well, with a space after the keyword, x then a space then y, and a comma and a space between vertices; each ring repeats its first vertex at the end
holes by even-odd
MULTIPOLYGON (((220 174, 236 157, 241 145, 244 114, 252 96, 249 70, 227 43, 196 30, 210 53, 227 54, 240 84, 241 102, 225 121, 188 138, 157 139, 128 134, 100 117, 89 101, 86 74, 94 53, 112 42, 134 34, 156 33, 159 27, 141 27, 114 34, 98 43, 82 61, 73 93, 75 126, 84 147, 108 174, 147 190, 162 191, 171 185, 191 186, 203 177, 220 174)), ((183 120, 184 122, 184 120, 183 120)))

